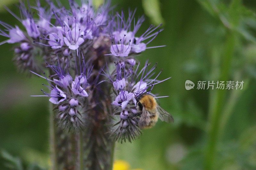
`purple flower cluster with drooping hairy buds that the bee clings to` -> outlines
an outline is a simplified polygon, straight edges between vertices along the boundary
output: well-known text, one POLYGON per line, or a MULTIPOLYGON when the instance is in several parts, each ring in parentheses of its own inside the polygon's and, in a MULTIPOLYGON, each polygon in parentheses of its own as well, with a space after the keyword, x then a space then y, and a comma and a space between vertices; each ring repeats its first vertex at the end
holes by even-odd
POLYGON ((115 71, 111 75, 106 75, 113 85, 115 100, 112 105, 115 107, 115 115, 119 115, 113 135, 117 141, 125 142, 127 139, 131 142, 141 133, 138 126, 140 113, 136 109, 138 102, 136 98, 144 93, 156 97, 151 93, 154 85, 169 78, 157 80, 161 72, 154 77, 156 64, 149 69, 151 64, 148 61, 142 69, 139 69, 140 63, 137 64, 132 58, 117 62, 115 65, 115 71))

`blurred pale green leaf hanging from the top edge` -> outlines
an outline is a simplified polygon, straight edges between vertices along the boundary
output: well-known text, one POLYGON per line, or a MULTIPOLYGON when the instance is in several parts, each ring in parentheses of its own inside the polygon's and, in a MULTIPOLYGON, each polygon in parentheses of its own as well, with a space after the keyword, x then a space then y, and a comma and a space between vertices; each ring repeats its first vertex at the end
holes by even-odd
POLYGON ((151 19, 153 24, 164 23, 159 0, 142 0, 142 6, 145 14, 151 19))

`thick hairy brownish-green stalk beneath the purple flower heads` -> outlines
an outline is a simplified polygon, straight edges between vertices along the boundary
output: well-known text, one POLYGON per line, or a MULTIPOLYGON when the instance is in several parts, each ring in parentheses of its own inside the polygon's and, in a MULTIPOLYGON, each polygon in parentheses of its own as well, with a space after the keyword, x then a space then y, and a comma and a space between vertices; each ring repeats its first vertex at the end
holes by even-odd
POLYGON ((109 139, 106 121, 94 121, 84 131, 61 129, 50 112, 52 169, 111 169, 114 141, 109 139))

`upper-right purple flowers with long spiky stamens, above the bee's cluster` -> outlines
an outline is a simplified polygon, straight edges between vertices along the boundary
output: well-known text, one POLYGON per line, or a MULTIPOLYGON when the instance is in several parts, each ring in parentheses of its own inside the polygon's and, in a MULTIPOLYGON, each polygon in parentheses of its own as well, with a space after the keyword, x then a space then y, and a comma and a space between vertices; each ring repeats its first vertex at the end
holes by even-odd
POLYGON ((128 56, 130 53, 141 53, 147 48, 156 48, 156 47, 147 47, 147 45, 153 41, 157 34, 162 31, 162 29, 156 31, 159 26, 149 26, 142 35, 136 37, 136 33, 139 30, 140 26, 144 21, 144 17, 140 17, 137 22, 135 22, 135 11, 129 11, 128 18, 124 17, 124 12, 121 14, 117 13, 116 18, 112 21, 112 39, 115 42, 115 45, 111 46, 110 51, 112 55, 115 56, 128 56), (132 29, 132 23, 133 29, 132 29), (148 40, 149 39, 149 40, 148 40), (142 41, 148 40, 147 43, 142 41))

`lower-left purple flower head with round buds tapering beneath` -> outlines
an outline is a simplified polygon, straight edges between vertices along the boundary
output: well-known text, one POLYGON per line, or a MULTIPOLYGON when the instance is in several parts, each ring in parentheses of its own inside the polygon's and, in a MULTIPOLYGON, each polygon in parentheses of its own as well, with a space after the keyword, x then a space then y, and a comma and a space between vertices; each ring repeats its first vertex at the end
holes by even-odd
POLYGON ((84 124, 84 110, 86 106, 86 98, 89 96, 90 87, 90 73, 92 70, 92 65, 90 63, 85 63, 84 60, 76 61, 77 72, 75 74, 70 74, 65 67, 61 67, 60 63, 56 65, 47 65, 53 72, 51 75, 52 80, 45 78, 50 86, 46 86, 51 91, 46 93, 43 91, 44 96, 50 97, 49 101, 54 104, 58 113, 58 118, 61 126, 79 127, 82 128, 84 124), (80 61, 80 63, 78 63, 80 61), (81 114, 82 112, 83 114, 81 114))

